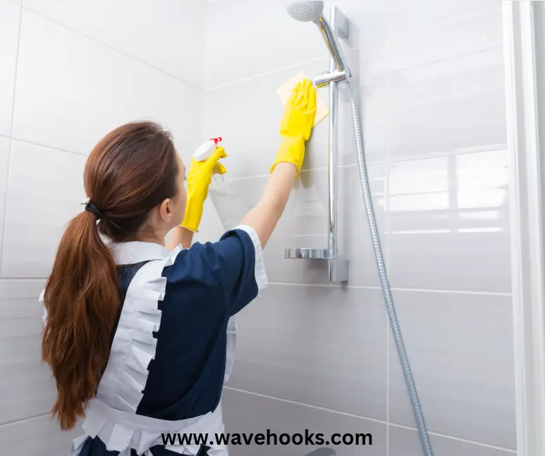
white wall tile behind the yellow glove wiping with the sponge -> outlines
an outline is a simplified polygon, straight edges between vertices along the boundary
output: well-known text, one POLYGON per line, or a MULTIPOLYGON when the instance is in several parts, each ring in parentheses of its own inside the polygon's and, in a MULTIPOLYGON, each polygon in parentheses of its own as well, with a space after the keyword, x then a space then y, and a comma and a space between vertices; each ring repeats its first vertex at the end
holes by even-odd
MULTIPOLYGON (((221 87, 204 94, 204 137, 221 136, 228 158, 228 178, 266 175, 273 163, 281 137, 278 133, 283 106, 276 89, 301 70, 307 78, 326 68, 318 61, 298 68, 221 87)), ((338 164, 355 164, 355 142, 350 116, 347 87, 341 87, 338 124, 338 164)), ((385 91, 380 85, 361 87, 358 91, 362 106, 362 128, 368 161, 383 161, 386 150, 384 121, 385 91)), ((319 90, 319 97, 328 104, 328 92, 319 90)), ((329 116, 312 130, 307 142, 303 169, 326 167, 328 164, 329 116)))

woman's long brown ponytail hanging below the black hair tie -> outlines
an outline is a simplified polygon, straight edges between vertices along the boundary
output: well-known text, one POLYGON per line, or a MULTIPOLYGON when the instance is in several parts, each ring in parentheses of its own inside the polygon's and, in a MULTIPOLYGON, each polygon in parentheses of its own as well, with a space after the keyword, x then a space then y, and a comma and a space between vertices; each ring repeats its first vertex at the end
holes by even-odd
POLYGON ((51 366, 57 387, 51 414, 66 430, 84 416, 85 405, 97 392, 121 309, 116 263, 89 211, 75 216, 66 228, 44 305, 42 360, 51 366))

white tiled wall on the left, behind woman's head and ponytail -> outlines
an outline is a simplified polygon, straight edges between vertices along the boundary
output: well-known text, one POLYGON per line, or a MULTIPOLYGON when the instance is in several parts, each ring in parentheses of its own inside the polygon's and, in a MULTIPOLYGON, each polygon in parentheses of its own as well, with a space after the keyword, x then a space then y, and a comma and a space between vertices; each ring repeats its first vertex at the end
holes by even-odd
POLYGON ((0 0, 0 445, 59 456, 80 431, 47 416, 37 297, 104 134, 149 118, 183 156, 199 144, 206 11, 200 0, 21 3, 0 0))

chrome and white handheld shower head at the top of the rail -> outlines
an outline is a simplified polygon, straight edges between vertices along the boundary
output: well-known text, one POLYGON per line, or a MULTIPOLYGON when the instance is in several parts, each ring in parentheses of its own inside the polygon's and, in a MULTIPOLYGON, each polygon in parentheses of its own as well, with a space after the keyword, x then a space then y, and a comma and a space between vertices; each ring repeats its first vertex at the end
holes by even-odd
MULTIPOLYGON (((336 8, 332 8, 332 11, 333 10, 336 10, 336 8)), ((338 70, 339 74, 343 73, 343 77, 345 73, 346 77, 350 78, 350 68, 345 65, 345 59, 343 58, 341 48, 338 46, 338 33, 333 32, 326 18, 322 17, 322 13, 324 12, 324 2, 316 0, 292 1, 290 4, 288 4, 288 6, 286 6, 286 11, 295 20, 299 20, 300 22, 312 21, 317 25, 326 41, 327 49, 329 49, 329 53, 333 58, 336 70, 338 70)), ((332 19, 332 22, 333 25, 336 24, 335 18, 332 19)))

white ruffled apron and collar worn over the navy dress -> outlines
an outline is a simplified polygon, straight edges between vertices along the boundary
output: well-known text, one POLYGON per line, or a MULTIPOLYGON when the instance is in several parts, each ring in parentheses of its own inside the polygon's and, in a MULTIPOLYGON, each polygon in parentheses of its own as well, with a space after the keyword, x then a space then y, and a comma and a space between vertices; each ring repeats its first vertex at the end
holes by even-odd
MULTIPOLYGON (((163 269, 173 264, 181 246, 168 252, 160 245, 147 242, 125 242, 111 245, 117 264, 134 264, 149 261, 142 266, 130 282, 123 309, 111 346, 106 370, 99 383, 97 396, 85 407, 82 428, 85 435, 73 440, 71 456, 78 456, 87 438, 99 436, 106 450, 118 451, 119 456, 153 456, 154 445, 164 445, 161 434, 208 433, 210 456, 228 456, 227 445, 215 443, 215 434, 223 434, 221 402, 214 412, 180 421, 166 421, 136 414, 142 400, 142 390, 147 381, 147 367, 154 359, 161 311, 159 301, 164 300, 166 278, 163 269), (121 252, 116 252, 120 249, 121 252), (210 442, 214 442, 211 444, 210 442)), ((43 300, 43 292, 40 296, 43 300)), ((44 321, 47 314, 44 314, 44 321)), ((233 369, 237 326, 231 317, 227 327, 227 356, 224 383, 233 369)), ((196 455, 200 444, 165 445, 167 450, 180 455, 196 455)))

